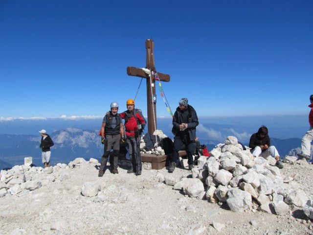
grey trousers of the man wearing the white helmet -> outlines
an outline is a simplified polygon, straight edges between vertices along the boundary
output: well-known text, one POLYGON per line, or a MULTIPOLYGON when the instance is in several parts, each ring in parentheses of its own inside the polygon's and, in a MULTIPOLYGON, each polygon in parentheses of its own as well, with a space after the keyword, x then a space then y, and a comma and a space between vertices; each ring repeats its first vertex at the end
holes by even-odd
POLYGON ((107 162, 108 162, 108 157, 110 155, 110 151, 112 148, 113 148, 113 155, 114 155, 112 168, 117 168, 120 140, 121 140, 120 134, 106 136, 106 141, 104 143, 104 153, 101 158, 100 170, 104 170, 104 168, 106 167, 107 162))

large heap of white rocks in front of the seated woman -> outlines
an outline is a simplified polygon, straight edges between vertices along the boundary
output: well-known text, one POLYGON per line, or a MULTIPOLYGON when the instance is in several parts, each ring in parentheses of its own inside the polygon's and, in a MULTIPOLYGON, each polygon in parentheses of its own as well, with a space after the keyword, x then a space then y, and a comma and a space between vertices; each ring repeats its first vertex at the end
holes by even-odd
POLYGON ((226 203, 231 211, 259 210, 281 215, 303 209, 307 195, 292 179, 283 179, 275 163, 271 156, 254 158, 236 137, 229 136, 224 144, 215 146, 210 158, 198 160, 198 167, 192 170, 193 179, 181 179, 174 189, 212 203, 226 203))

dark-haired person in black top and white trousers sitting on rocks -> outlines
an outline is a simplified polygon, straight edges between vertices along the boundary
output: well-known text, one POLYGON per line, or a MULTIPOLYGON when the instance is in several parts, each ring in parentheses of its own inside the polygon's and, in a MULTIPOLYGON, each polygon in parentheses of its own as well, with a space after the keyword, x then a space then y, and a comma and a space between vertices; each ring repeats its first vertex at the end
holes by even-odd
POLYGON ((275 157, 276 166, 282 169, 284 166, 280 161, 279 153, 275 146, 270 146, 270 140, 268 136, 268 128, 261 126, 257 133, 254 133, 249 142, 251 153, 254 157, 267 158, 268 156, 275 157))

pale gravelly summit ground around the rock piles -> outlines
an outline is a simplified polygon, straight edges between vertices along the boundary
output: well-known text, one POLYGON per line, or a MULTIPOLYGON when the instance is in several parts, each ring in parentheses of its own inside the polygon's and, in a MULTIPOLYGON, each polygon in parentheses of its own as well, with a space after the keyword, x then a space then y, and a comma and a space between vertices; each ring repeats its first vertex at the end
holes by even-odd
MULTIPOLYGON (((170 175, 165 168, 144 169, 141 176, 123 168, 114 175, 108 169, 100 178, 95 166, 87 162, 74 168, 54 167, 51 174, 41 170, 37 178, 42 187, 1 197, 0 234, 313 234, 312 221, 303 211, 232 212, 225 204, 192 198, 160 183, 160 174, 170 175), (86 182, 100 183, 98 195, 82 195, 86 182)), ((291 177, 313 198, 313 165, 284 166, 284 177, 291 177)), ((171 176, 179 180, 190 174, 176 168, 171 176)))

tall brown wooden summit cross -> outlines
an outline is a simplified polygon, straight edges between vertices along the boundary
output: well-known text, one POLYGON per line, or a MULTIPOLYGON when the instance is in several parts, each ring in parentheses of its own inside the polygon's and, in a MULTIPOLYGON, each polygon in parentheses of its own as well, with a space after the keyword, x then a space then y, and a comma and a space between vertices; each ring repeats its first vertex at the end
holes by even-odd
MULTIPOLYGON (((127 74, 130 76, 143 77, 147 79, 147 112, 148 112, 148 132, 153 134, 156 130, 156 126, 154 125, 154 120, 156 121, 156 103, 152 103, 152 95, 156 95, 156 83, 155 76, 156 67, 155 67, 155 58, 153 55, 154 44, 152 39, 146 40, 146 69, 150 70, 152 80, 150 81, 150 77, 147 73, 145 73, 142 69, 135 67, 127 67, 127 74), (151 93, 151 85, 153 84, 153 89, 151 93), (153 112, 154 110, 154 112, 153 112), (153 115, 153 113, 155 115, 153 115)), ((158 78, 163 82, 170 81, 170 75, 157 72, 158 78)), ((157 80, 157 78, 156 78, 157 80)))

